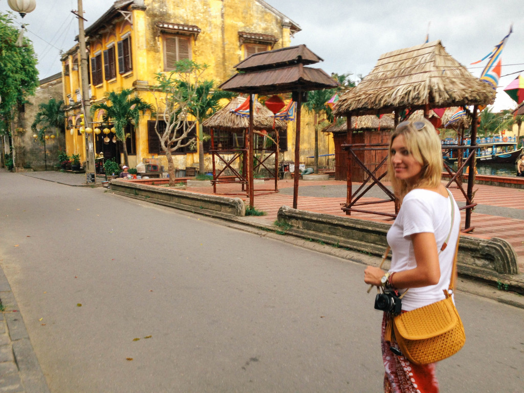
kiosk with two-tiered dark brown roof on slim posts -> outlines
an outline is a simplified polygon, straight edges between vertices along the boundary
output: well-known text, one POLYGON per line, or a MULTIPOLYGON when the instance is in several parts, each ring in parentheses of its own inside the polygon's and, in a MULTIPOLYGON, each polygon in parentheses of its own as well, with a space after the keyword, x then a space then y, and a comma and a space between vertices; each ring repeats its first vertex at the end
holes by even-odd
MULTIPOLYGON (((252 54, 235 65, 237 74, 222 83, 223 90, 249 94, 249 112, 253 113, 253 94, 292 93, 297 102, 297 128, 295 132, 295 172, 293 180, 293 209, 298 204, 298 178, 300 154, 300 116, 302 102, 307 99, 310 90, 331 89, 339 85, 330 75, 321 69, 305 67, 318 63, 322 59, 305 45, 287 47, 252 54)), ((250 116, 252 119, 253 116, 250 116)), ((253 162, 252 137, 253 125, 249 125, 249 159, 253 162)), ((253 207, 253 171, 249 170, 249 206, 253 207)))

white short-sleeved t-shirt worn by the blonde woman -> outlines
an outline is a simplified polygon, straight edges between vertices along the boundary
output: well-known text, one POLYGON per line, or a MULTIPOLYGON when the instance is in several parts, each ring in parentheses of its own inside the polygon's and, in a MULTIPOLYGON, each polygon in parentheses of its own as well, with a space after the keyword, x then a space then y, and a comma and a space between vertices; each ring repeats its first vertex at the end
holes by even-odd
POLYGON ((417 267, 413 252, 411 235, 430 232, 435 235, 439 250, 440 280, 436 285, 410 288, 402 298, 402 310, 410 311, 444 299, 443 289, 450 285, 455 247, 460 231, 460 212, 452 196, 424 189, 414 189, 406 194, 400 211, 387 234, 392 250, 390 272, 409 270, 417 267), (451 228, 451 203, 453 201, 455 218, 447 247, 440 252, 451 228))

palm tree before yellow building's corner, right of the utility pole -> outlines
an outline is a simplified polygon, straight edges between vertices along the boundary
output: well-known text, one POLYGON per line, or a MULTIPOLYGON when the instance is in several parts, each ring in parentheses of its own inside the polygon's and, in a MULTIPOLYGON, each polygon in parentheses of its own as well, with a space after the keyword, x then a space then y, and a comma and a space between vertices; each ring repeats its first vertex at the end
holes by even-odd
POLYGON ((102 116, 104 123, 113 123, 116 129, 116 139, 122 142, 124 146, 124 161, 125 165, 129 166, 127 158, 126 138, 129 134, 125 134, 125 128, 129 123, 138 124, 140 111, 152 110, 153 106, 148 104, 138 95, 133 95, 132 89, 123 89, 121 92, 106 92, 106 102, 97 102, 91 105, 91 114, 93 115, 97 110, 103 110, 102 116), (110 104, 108 104, 108 102, 110 104))

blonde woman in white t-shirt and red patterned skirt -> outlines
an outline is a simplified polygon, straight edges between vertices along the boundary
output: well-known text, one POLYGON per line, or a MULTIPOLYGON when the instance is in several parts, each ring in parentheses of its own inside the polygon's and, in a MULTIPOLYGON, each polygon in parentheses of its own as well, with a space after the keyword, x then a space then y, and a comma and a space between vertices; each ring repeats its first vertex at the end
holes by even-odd
MULTIPOLYGON (((397 126, 389 143, 388 174, 401 201, 387 234, 391 268, 385 272, 368 266, 364 281, 397 293, 409 288, 401 304, 402 311, 410 311, 444 299, 460 231, 459 208, 441 183, 441 144, 430 122, 406 121, 397 126), (449 241, 443 246, 446 238, 449 241)), ((435 364, 413 365, 401 355, 394 335, 386 329, 386 325, 390 329, 391 318, 390 312, 384 312, 385 392, 438 392, 435 364)))

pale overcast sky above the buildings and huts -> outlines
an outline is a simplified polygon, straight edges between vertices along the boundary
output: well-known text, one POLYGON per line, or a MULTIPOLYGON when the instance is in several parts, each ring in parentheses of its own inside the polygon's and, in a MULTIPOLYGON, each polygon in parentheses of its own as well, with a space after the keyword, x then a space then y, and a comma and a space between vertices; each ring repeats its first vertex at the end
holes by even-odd
MULTIPOLYGON (((173 0, 175 1, 175 0, 173 0)), ((246 0, 252 1, 252 0, 246 0)), ((304 43, 324 59, 314 65, 331 73, 367 75, 380 54, 441 40, 446 51, 479 76, 482 59, 508 33, 502 54, 503 68, 494 110, 514 108, 501 88, 524 76, 524 2, 522 0, 266 0, 297 23, 302 31, 292 45, 304 43), (513 65, 512 65, 513 64, 513 65), (479 68, 480 67, 480 68, 479 68)), ((77 0, 36 0, 27 14, 27 36, 38 54, 40 79, 60 72, 59 51, 74 45, 78 21, 71 13, 77 0)), ((84 16, 90 26, 113 4, 112 0, 84 0, 84 16)), ((0 11, 9 10, 0 0, 0 11)), ((16 15, 19 22, 21 18, 16 15)))

